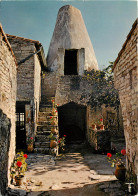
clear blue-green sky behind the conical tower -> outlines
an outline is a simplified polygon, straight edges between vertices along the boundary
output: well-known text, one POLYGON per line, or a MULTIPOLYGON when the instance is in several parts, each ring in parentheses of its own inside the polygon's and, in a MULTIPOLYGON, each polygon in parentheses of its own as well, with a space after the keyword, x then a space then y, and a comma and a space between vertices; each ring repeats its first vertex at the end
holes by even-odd
POLYGON ((0 0, 5 33, 38 40, 47 56, 60 7, 72 5, 83 16, 100 69, 115 61, 137 18, 135 0, 0 0))

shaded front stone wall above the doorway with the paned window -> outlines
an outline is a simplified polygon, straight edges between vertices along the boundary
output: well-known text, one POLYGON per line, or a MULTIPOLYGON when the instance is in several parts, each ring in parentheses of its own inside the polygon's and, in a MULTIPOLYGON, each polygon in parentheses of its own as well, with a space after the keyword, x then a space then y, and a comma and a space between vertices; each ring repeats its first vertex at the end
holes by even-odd
MULTIPOLYGON (((35 50, 34 43, 21 39, 10 38, 17 62, 28 57, 35 50)), ((17 101, 30 101, 34 97, 34 56, 18 66, 17 70, 17 101)))

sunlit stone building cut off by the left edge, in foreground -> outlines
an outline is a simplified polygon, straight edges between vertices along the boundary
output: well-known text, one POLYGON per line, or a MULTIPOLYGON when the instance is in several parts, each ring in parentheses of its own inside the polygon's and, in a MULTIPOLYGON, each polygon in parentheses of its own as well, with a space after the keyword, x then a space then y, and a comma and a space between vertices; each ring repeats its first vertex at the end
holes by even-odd
POLYGON ((0 195, 5 195, 15 155, 17 62, 0 24, 0 195))

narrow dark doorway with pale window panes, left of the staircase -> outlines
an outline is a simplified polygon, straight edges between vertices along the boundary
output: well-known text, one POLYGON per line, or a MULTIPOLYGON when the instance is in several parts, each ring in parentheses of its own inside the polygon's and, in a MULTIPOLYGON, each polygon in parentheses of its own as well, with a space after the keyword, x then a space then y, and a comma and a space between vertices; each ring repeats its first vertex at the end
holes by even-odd
POLYGON ((16 103, 16 149, 26 149, 25 104, 16 103))

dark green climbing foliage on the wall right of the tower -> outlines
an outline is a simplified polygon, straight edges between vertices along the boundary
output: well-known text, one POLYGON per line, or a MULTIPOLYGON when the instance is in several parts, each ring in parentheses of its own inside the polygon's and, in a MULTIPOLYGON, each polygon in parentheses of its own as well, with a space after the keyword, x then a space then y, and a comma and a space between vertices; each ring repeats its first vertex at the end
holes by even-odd
POLYGON ((110 65, 102 71, 85 72, 84 78, 91 81, 94 86, 89 101, 92 107, 100 107, 102 104, 106 107, 117 108, 119 106, 120 101, 118 91, 114 88, 112 67, 113 62, 110 62, 110 65))

